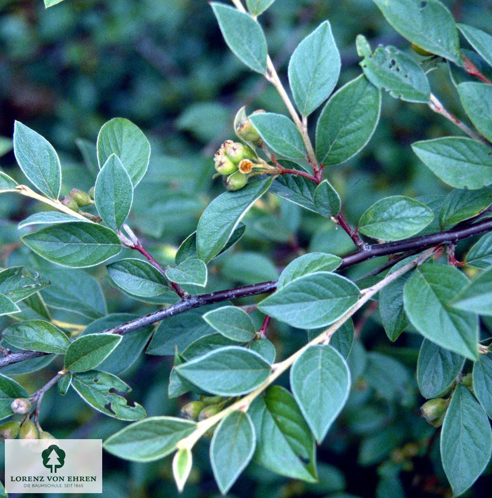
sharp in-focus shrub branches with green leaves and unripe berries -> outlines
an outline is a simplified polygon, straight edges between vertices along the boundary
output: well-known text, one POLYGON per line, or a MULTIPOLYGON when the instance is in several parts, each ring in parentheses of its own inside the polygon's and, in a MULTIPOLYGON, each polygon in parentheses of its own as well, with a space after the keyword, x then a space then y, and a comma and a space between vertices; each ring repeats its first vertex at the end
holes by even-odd
MULTIPOLYGON (((492 37, 455 24, 438 0, 374 2, 419 55, 393 46, 373 51, 359 35, 362 74, 334 93, 341 63, 328 20, 292 54, 287 89, 257 20, 273 1, 247 0, 248 10, 239 0, 211 4, 231 51, 273 85, 290 118, 268 110, 250 115, 244 107, 239 110, 234 120, 237 141, 225 141, 214 156, 216 176, 223 177, 228 191, 203 211, 172 267, 159 263, 144 247, 135 235, 138 226, 129 226, 134 190, 151 156, 150 144, 135 124, 115 118, 102 126, 96 146, 87 149, 88 160, 97 165, 94 187, 87 193, 73 189, 61 199, 55 149, 34 130, 15 124, 15 157, 35 190, 0 172, 0 193, 20 194, 52 209, 19 223, 21 229, 29 227, 22 243, 41 258, 69 268, 109 260, 107 273, 116 288, 149 304, 167 305, 125 323, 108 321, 84 330, 51 318, 40 293, 50 286, 42 271, 35 274, 20 266, 0 271, 0 314, 11 318, 2 333, 0 368, 63 357, 61 370, 32 394, 0 375, 1 417, 13 415, 0 428, 3 438, 52 437, 42 430, 38 416, 45 392, 58 384, 62 394, 73 388, 96 410, 133 421, 105 441, 104 448, 113 455, 149 462, 174 453, 172 472, 179 490, 190 474, 194 445, 212 434, 210 462, 223 494, 251 460, 281 475, 315 482, 315 441, 326 438, 364 369, 357 366, 362 360, 350 353, 350 318, 369 303, 356 336, 377 306, 391 341, 407 327, 423 336, 417 365, 418 386, 428 399, 421 408, 423 417, 442 427, 434 437, 440 430, 442 465, 454 495, 474 484, 492 448, 491 341, 479 322, 480 316, 492 314, 492 85, 477 65, 479 58, 492 63, 492 37), (476 52, 460 48, 459 31, 476 52), (449 66, 474 128, 446 110, 431 91, 428 73, 443 64, 449 66), (429 106, 468 136, 412 144, 420 160, 455 189, 441 205, 393 195, 375 202, 354 228, 342 214, 330 170, 369 142, 380 118, 383 91, 429 106), (308 118, 323 104, 311 134, 308 118), (354 251, 344 257, 306 253, 293 259, 277 280, 200 294, 214 258, 241 239, 243 218, 267 192, 331 220, 350 237, 354 251), (482 238, 465 261, 458 261, 456 244, 474 236, 482 238), (145 259, 118 259, 123 249, 145 259), (381 256, 387 258, 355 280, 341 274, 381 256), (253 304, 237 302, 260 295, 253 304), (185 318, 192 309, 216 303, 223 305, 198 312, 195 321, 185 318), (36 319, 26 308, 36 311, 36 319), (249 316, 252 310, 261 313, 259 329, 249 316), (268 339, 272 320, 308 330, 309 342, 276 362, 268 339), (149 329, 158 322, 172 323, 170 331, 149 329), (185 329, 190 340, 178 339, 185 329), (127 354, 123 339, 138 334, 144 342, 135 346, 135 355, 149 339, 147 352, 169 354, 164 343, 175 340, 169 396, 191 396, 182 417, 147 417, 140 404, 131 405, 123 397, 130 387, 104 370, 111 358, 122 361, 121 355, 127 354), (292 393, 275 384, 287 371, 292 393)), ((97 294, 97 285, 95 289, 97 294)), ((398 375, 401 368, 380 353, 372 353, 370 361, 374 371, 398 375)))

